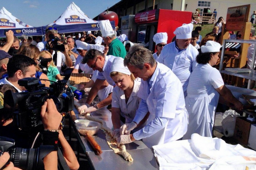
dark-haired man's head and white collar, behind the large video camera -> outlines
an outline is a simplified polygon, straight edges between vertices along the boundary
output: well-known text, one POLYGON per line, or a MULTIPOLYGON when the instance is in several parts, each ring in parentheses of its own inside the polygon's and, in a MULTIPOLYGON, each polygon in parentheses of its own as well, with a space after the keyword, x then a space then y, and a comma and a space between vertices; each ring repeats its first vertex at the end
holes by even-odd
POLYGON ((0 80, 0 84, 10 84, 18 92, 26 90, 25 87, 18 84, 18 80, 26 77, 35 77, 36 62, 25 55, 14 55, 7 64, 7 74, 0 80))

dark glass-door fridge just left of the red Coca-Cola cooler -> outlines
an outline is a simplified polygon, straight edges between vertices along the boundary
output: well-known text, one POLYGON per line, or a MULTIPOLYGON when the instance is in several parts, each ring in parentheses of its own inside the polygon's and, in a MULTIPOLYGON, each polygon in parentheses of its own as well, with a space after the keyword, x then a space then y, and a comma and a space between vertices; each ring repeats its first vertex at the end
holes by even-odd
POLYGON ((136 41, 135 15, 127 15, 121 18, 121 34, 126 34, 131 42, 136 41))

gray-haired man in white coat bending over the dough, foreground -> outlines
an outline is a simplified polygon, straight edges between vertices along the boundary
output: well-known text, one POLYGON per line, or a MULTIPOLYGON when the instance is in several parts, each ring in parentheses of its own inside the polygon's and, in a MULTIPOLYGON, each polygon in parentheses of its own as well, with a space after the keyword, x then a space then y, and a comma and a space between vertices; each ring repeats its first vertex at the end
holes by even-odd
POLYGON ((178 77, 164 64, 156 62, 151 52, 143 46, 134 45, 124 58, 134 77, 142 79, 138 97, 141 102, 132 123, 120 127, 118 146, 143 139, 148 147, 182 139, 187 131, 187 110, 182 84, 178 77), (146 126, 129 134, 147 113, 146 126))

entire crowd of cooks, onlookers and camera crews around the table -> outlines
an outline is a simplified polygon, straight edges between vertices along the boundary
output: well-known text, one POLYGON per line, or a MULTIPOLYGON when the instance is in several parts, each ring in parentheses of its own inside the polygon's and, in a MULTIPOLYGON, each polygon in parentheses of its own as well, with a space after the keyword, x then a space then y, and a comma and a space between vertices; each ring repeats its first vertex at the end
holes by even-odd
MULTIPOLYGON (((224 99, 238 110, 243 108, 213 67, 219 59, 222 25, 220 17, 213 31, 202 37, 199 35, 202 27, 193 31, 192 23, 183 24, 176 28, 176 37, 169 44, 167 33, 156 33, 154 54, 142 44, 130 42, 125 34, 117 36, 108 20, 100 21, 101 34, 88 31, 82 35, 76 33, 74 38, 60 35, 58 28, 48 26, 46 40, 38 43, 27 35, 22 35, 19 43, 10 30, 6 32, 6 44, 0 49, 0 92, 26 91, 18 84, 26 77, 39 78, 40 84, 49 87, 53 82, 69 79, 71 73, 88 73, 91 80, 81 89, 88 97, 78 111, 83 114, 111 105, 112 135, 118 146, 142 139, 146 146, 152 147, 190 139, 193 133, 212 137, 219 100, 224 99), (63 44, 64 49, 55 50, 56 44, 63 44), (91 105, 96 95, 99 102, 91 105)), ((237 32, 235 38, 241 37, 241 32, 237 32)), ((254 38, 252 27, 250 39, 254 38)), ((251 45, 248 51, 253 52, 253 48, 251 45)), ((14 128, 12 113, 18 106, 7 105, 3 95, 0 101, 3 101, 0 136, 14 138, 15 146, 31 147, 28 139, 34 134, 21 137, 14 128)), ((59 128, 61 118, 53 100, 47 99, 41 110, 44 129, 41 142, 56 147, 59 141, 57 145, 62 148, 68 167, 78 169, 75 154, 59 128)), ((57 169, 58 146, 44 159, 46 170, 57 169)), ((7 153, 3 156, 0 158, 8 158, 7 153)))

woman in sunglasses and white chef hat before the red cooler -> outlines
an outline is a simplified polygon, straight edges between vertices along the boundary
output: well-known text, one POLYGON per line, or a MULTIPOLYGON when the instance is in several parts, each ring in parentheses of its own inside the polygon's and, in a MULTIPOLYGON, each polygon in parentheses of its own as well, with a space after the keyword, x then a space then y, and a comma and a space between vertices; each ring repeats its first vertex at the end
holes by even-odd
POLYGON ((156 43, 156 53, 153 54, 153 57, 156 61, 158 61, 159 55, 167 43, 167 39, 168 36, 166 32, 160 32, 154 35, 153 41, 156 43))

